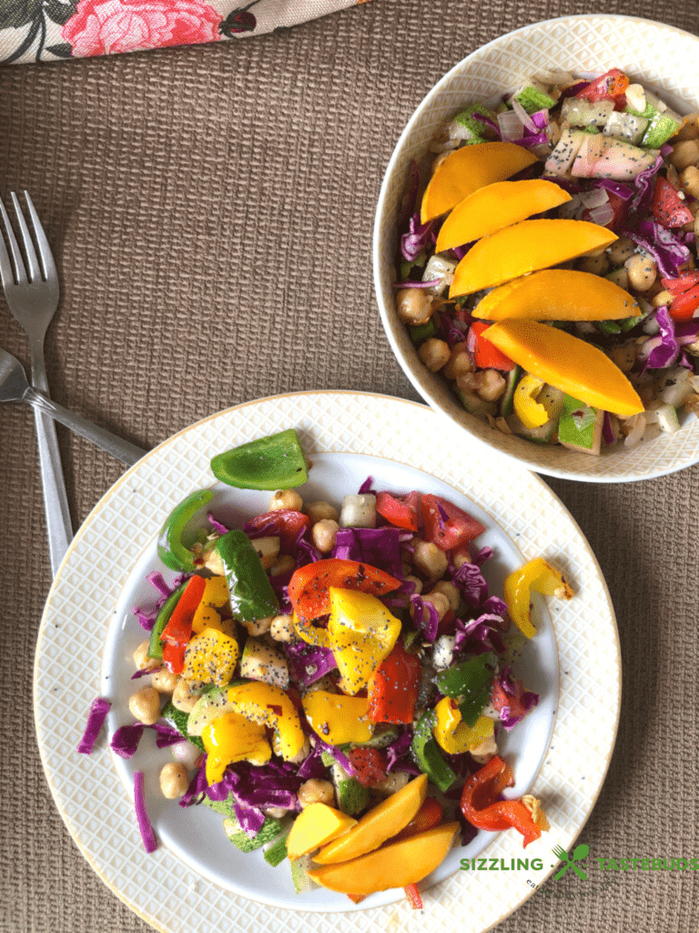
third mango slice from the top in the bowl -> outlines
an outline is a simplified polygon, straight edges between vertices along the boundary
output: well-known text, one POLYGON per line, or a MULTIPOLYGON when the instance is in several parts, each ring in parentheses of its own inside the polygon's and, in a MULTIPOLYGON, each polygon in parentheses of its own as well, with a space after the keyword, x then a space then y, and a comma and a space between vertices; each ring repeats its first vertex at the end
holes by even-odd
POLYGON ((473 246, 454 272, 449 298, 556 266, 604 249, 616 239, 616 233, 586 220, 523 220, 473 246))

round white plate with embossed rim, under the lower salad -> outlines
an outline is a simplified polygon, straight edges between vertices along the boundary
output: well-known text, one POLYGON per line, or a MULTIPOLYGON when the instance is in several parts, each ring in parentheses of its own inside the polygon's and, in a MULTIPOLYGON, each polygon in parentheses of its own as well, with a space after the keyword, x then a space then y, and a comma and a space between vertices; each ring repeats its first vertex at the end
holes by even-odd
MULTIPOLYGON (((222 514, 226 508, 253 514, 266 502, 263 494, 239 491, 216 496, 222 514)), ((609 766, 620 689, 619 643, 604 580, 580 529, 541 480, 474 454, 465 436, 455 439, 447 423, 423 406, 341 392, 262 399, 213 415, 161 444, 118 480, 75 536, 51 588, 34 678, 41 756, 68 829, 118 897, 169 933, 242 931, 251 924, 302 927, 305 919, 316 926, 318 911, 324 912, 323 928, 338 933, 385 930, 394 916, 407 929, 455 923, 486 929, 528 897, 528 879, 540 884, 550 873, 551 847, 568 849, 583 827, 609 766), (539 606, 540 634, 525 661, 528 686, 541 690, 541 706, 503 746, 514 763, 515 791, 531 787, 545 802, 553 829, 526 853, 514 832, 481 834, 435 872, 437 884, 425 894, 420 914, 410 911, 402 892, 374 895, 356 907, 322 890, 296 897, 287 866, 271 870, 259 853, 240 855, 223 837, 219 816, 203 807, 183 811, 158 798, 157 763, 167 753, 157 752, 150 737, 131 762, 114 758, 104 737, 89 758, 75 752, 98 693, 113 702, 110 734, 131 721, 125 702, 133 689, 130 652, 143 633, 130 610, 148 595, 143 574, 155 565, 163 517, 186 494, 212 485, 214 453, 290 426, 316 464, 308 495, 337 500, 369 474, 377 487, 441 491, 487 525, 483 540, 496 550, 495 587, 521 558, 541 555, 561 566, 576 590, 571 602, 550 605, 553 625, 539 606), (136 762, 148 775, 149 811, 164 843, 150 856, 133 814, 136 762), (488 856, 508 864, 512 857, 541 857, 545 869, 459 871, 459 857, 475 855, 486 843, 488 856), (463 898, 473 907, 468 919, 463 898)))

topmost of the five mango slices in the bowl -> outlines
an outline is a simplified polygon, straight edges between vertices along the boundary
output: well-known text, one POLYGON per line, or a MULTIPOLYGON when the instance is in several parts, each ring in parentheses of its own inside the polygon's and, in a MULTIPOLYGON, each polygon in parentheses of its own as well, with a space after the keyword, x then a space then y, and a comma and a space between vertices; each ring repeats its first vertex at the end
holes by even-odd
POLYGON ((514 143, 478 143, 452 152, 432 175, 422 196, 424 224, 456 207, 478 188, 503 181, 537 161, 528 149, 514 143))

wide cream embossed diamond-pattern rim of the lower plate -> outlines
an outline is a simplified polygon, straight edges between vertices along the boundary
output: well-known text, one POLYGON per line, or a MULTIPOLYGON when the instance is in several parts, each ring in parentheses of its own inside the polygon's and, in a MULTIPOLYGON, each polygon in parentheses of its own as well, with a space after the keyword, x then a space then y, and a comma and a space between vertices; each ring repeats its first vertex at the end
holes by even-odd
MULTIPOLYGON (((524 855, 546 859, 554 844, 569 851, 610 764, 621 657, 609 592, 582 532, 538 477, 504 459, 493 461, 483 449, 473 450, 465 434, 454 438, 429 408, 404 399, 299 393, 219 412, 146 454, 90 513, 49 592, 34 666, 39 749, 67 828, 105 884, 131 910, 168 933, 193 928, 242 933, 251 924, 301 929, 319 922, 318 913, 301 904, 290 911, 224 891, 168 849, 147 855, 104 738, 89 758, 75 752, 99 689, 106 622, 135 555, 157 536, 163 515, 186 494, 210 484, 213 453, 289 426, 299 431, 311 459, 316 452, 368 453, 430 473, 485 508, 526 559, 542 555, 564 562, 576 598, 550 604, 562 675, 554 734, 532 788, 547 802, 553 829, 524 855), (173 889, 182 895, 176 902, 173 889)), ((508 864, 522 857, 521 838, 500 833, 488 846, 488 856, 506 858, 508 864)), ((544 864, 540 881, 551 873, 544 864)), ((456 925, 481 933, 530 896, 529 873, 510 871, 505 878, 457 871, 430 889, 425 912, 411 911, 405 901, 356 912, 331 908, 323 912, 322 925, 337 933, 379 933, 397 917, 408 931, 456 925), (463 898, 469 900, 469 918, 463 898)))

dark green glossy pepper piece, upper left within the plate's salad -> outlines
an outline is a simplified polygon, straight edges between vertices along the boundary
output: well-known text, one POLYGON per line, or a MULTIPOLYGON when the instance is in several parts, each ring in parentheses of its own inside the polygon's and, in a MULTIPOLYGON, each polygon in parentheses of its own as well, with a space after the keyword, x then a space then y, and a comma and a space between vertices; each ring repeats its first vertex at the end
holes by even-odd
POLYGON ((250 538, 234 528, 213 549, 224 565, 228 599, 237 621, 266 619, 279 613, 279 602, 250 538))

